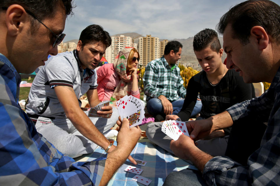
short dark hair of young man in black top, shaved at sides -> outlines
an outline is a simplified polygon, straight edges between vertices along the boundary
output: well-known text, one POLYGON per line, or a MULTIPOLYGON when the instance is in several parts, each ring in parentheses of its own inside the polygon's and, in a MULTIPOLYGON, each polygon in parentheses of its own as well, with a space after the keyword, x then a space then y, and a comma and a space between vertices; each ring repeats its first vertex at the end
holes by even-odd
POLYGON ((212 29, 205 28, 195 35, 192 46, 194 51, 201 51, 210 45, 212 51, 219 52, 221 47, 218 33, 212 29))

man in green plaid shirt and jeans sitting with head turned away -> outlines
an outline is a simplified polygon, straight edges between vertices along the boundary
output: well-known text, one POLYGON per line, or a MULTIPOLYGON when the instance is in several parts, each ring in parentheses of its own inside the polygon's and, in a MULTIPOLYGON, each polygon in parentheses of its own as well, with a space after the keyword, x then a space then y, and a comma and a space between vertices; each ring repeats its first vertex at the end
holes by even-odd
MULTIPOLYGON (((158 118, 161 115, 177 114, 184 103, 186 89, 176 65, 181 58, 183 45, 170 41, 164 49, 164 55, 148 63, 143 76, 144 93, 147 95, 147 110, 158 118)), ((160 117, 160 118, 162 118, 160 117)))

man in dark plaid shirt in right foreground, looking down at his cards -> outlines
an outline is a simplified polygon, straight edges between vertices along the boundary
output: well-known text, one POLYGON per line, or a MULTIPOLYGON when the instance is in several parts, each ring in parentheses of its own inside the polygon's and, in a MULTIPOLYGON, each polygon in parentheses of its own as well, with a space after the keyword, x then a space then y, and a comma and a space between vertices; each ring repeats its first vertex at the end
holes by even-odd
MULTIPOLYGON (((184 181, 190 185, 203 185, 204 181, 208 185, 279 185, 279 20, 280 7, 269 0, 245 1, 221 17, 217 29, 223 34, 227 68, 239 71, 245 83, 265 81, 271 85, 260 97, 237 103, 208 119, 188 122, 190 137, 181 135, 178 140, 171 141, 170 149, 179 157, 191 160, 202 175, 195 171, 179 171, 170 174, 164 185, 186 185, 184 181), (226 156, 212 157, 195 146, 194 140, 232 125, 234 129, 234 123, 244 118, 252 119, 252 123, 248 122, 252 126, 253 119, 267 122, 260 147, 247 157, 246 164, 241 165, 226 156)), ((244 144, 251 145, 246 141, 244 144)), ((242 152, 239 155, 242 156, 242 152)))

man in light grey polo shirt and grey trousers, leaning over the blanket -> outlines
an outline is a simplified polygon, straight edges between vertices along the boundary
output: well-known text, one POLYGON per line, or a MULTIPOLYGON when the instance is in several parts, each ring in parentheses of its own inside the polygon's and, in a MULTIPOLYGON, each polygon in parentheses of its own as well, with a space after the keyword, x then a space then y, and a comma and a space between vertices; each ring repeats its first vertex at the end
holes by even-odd
POLYGON ((37 131, 72 158, 92 153, 97 146, 108 153, 115 149, 104 133, 116 124, 118 115, 112 112, 117 109, 100 103, 95 70, 110 45, 108 32, 99 25, 88 26, 76 50, 50 57, 30 89, 26 112, 37 120, 37 131), (78 99, 85 93, 92 107, 88 115, 94 117, 80 108, 78 99))

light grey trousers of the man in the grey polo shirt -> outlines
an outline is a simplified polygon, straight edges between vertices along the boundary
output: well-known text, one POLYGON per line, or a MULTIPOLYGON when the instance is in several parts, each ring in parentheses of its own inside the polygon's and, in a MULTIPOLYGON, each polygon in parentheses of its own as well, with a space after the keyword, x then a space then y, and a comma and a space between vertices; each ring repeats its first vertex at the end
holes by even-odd
MULTIPOLYGON (((88 111, 85 113, 88 114, 88 111)), ((102 134, 105 134, 116 124, 118 117, 118 109, 113 107, 111 118, 90 117, 90 120, 102 134)), ((84 137, 67 118, 38 117, 35 126, 38 133, 41 133, 60 152, 66 153, 72 158, 92 153, 98 146, 84 137)))

